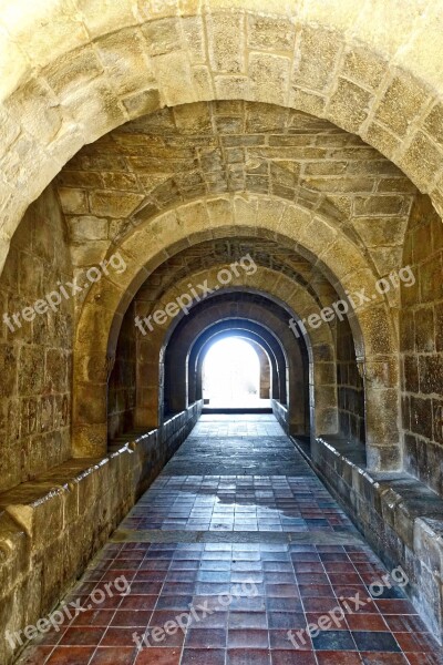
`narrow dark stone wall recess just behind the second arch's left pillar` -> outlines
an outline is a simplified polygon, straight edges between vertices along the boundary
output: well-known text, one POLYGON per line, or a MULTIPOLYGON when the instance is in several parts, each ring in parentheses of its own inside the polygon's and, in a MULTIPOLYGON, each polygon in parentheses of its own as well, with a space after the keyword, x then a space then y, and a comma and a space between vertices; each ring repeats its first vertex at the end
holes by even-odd
POLYGON ((107 389, 107 436, 112 440, 135 426, 136 328, 134 304, 126 311, 120 331, 115 364, 107 389))

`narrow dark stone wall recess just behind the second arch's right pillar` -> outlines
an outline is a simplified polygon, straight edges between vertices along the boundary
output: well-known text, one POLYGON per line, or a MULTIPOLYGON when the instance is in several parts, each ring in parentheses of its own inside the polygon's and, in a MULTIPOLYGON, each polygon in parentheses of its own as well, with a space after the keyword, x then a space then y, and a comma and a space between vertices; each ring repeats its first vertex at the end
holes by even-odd
POLYGON ((340 433, 364 442, 364 386, 347 319, 337 325, 337 388, 340 433))

